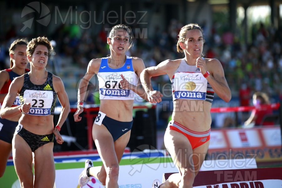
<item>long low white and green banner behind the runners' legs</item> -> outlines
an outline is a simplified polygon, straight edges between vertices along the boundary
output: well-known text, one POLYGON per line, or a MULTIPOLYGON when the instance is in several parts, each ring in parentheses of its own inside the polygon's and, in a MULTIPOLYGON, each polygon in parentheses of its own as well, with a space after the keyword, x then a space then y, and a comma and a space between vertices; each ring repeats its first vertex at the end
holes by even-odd
MULTIPOLYGON (((93 162, 101 166, 101 161, 93 162)), ((254 159, 204 161, 201 171, 251 169, 257 165, 254 159)), ((56 168, 56 188, 79 188, 78 176, 84 169, 84 162, 58 162, 56 168)), ((170 157, 122 159, 119 168, 119 188, 149 188, 155 179, 162 180, 164 173, 178 172, 170 157)), ((13 165, 7 166, 3 178, 0 178, 1 188, 20 187, 13 165)), ((102 184, 94 177, 83 188, 102 188, 102 184)))

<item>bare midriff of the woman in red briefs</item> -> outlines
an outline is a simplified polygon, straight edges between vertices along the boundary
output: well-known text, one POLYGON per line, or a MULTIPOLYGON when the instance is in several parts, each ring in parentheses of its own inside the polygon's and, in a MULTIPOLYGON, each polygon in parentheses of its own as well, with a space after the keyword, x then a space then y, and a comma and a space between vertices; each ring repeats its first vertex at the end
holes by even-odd
POLYGON ((211 128, 210 102, 177 99, 173 105, 172 120, 196 132, 204 132, 211 128))

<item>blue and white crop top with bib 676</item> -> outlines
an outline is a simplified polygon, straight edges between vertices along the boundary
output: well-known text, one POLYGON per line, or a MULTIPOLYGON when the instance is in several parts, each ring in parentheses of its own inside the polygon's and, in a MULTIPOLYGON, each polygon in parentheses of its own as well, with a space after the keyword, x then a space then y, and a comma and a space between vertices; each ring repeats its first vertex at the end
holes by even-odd
POLYGON ((123 89, 120 81, 123 75, 124 78, 132 85, 138 83, 138 76, 134 72, 132 65, 132 57, 126 56, 125 63, 118 69, 112 69, 108 65, 108 57, 101 60, 101 65, 98 71, 100 100, 133 100, 134 92, 129 89, 123 89))

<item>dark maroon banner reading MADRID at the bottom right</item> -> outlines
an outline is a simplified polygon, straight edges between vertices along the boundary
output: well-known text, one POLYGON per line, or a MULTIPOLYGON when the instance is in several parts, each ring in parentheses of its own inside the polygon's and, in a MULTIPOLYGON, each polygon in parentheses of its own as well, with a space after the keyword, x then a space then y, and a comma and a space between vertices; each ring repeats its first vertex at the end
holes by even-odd
MULTIPOLYGON (((200 171, 194 188, 280 188, 282 167, 200 171), (203 181, 204 180, 204 181, 203 181)), ((163 181, 173 173, 163 176, 163 181)))

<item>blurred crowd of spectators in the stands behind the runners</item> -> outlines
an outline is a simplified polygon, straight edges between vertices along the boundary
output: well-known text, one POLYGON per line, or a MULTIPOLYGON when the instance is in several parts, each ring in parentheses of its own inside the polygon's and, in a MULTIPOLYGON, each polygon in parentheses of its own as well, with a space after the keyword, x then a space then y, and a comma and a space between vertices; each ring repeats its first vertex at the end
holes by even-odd
MULTIPOLYGON (((219 33, 218 25, 213 24, 210 31, 205 30, 205 24, 200 24, 205 33, 204 57, 216 58, 221 61, 225 71, 227 82, 232 91, 232 97, 240 97, 240 105, 252 105, 251 97, 255 91, 264 91, 269 96, 282 97, 282 31, 272 27, 264 27, 264 24, 255 24, 251 31, 251 41, 243 44, 243 36, 226 31, 219 33)), ((145 66, 155 66, 166 59, 182 58, 183 54, 176 52, 177 34, 182 23, 171 20, 167 30, 154 28, 154 36, 143 37, 135 34, 138 25, 133 25, 134 46, 128 51, 129 56, 143 59, 145 66)), ((107 29, 104 28, 97 35, 90 30, 81 29, 78 25, 63 24, 57 30, 47 36, 53 40, 55 53, 56 74, 64 78, 64 70, 74 67, 85 72, 91 59, 104 57, 109 54, 106 45, 107 29)), ((151 29, 151 28, 148 28, 151 29)), ((8 46, 11 41, 19 36, 13 27, 1 38, 0 65, 1 69, 8 68, 8 46)), ((31 39, 35 36, 27 36, 31 39)), ((52 58, 51 58, 52 60, 52 58)), ((52 65, 52 63, 50 64, 52 65)), ((75 87, 82 75, 67 71, 68 76, 76 77, 76 83, 66 85, 75 87), (71 74, 71 75, 68 75, 71 74)), ((162 89, 170 83, 166 76, 153 78, 153 87, 162 89)), ((64 80, 63 80, 64 81, 64 80)))

